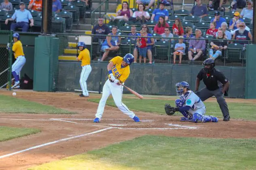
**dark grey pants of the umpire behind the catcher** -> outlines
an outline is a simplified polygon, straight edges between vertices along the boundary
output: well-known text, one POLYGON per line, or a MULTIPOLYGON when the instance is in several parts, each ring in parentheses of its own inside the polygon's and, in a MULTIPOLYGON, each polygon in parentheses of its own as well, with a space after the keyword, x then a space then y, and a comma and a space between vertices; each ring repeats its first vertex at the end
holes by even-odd
POLYGON ((220 94, 222 90, 222 87, 218 88, 217 90, 208 90, 207 88, 203 88, 199 91, 198 97, 200 97, 201 101, 205 101, 206 99, 215 96, 217 99, 217 102, 220 106, 220 109, 222 111, 222 115, 223 117, 226 115, 229 115, 229 111, 228 111, 228 105, 226 103, 226 100, 224 99, 224 94, 222 94, 221 96, 218 96, 218 94, 220 94))

